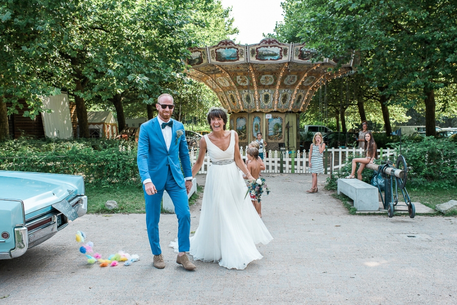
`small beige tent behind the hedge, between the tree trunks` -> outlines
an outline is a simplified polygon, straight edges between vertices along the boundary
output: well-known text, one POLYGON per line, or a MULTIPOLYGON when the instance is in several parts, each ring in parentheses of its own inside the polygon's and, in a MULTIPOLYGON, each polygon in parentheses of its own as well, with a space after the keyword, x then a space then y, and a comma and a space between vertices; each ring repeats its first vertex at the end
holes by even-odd
POLYGON ((117 135, 117 121, 109 111, 88 111, 89 133, 94 138, 114 138, 117 135))

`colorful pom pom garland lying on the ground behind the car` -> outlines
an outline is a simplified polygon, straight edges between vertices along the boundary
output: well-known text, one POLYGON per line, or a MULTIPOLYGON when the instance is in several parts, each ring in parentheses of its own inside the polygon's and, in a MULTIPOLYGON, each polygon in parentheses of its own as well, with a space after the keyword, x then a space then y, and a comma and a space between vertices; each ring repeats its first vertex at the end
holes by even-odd
MULTIPOLYGON (((86 240, 87 236, 83 231, 76 232, 77 243, 84 243, 86 240)), ((108 259, 103 259, 102 255, 99 253, 93 253, 93 243, 89 241, 79 247, 79 252, 85 255, 88 264, 99 262, 101 267, 115 267, 119 265, 119 262, 124 262, 124 266, 129 266, 133 262, 136 262, 140 259, 140 256, 137 254, 130 255, 123 251, 119 251, 116 254, 111 254, 108 259)))

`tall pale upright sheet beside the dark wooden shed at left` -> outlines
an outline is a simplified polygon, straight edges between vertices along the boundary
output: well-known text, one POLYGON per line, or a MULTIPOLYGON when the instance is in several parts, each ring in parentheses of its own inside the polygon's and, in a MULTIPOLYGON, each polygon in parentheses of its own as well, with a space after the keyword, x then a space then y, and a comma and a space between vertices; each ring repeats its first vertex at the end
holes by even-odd
POLYGON ((68 94, 62 93, 54 96, 43 96, 42 100, 44 108, 52 110, 51 113, 42 113, 46 137, 72 139, 73 129, 68 105, 68 94))

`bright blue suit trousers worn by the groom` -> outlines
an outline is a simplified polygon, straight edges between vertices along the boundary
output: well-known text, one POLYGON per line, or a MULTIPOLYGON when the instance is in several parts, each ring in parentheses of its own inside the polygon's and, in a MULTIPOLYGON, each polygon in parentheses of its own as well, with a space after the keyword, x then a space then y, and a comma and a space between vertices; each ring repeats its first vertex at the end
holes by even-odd
POLYGON ((154 195, 148 195, 144 192, 144 199, 146 201, 146 226, 152 254, 159 255, 162 253, 159 244, 158 223, 160 220, 160 204, 162 196, 164 196, 164 190, 167 190, 170 195, 173 205, 175 206, 176 217, 178 218, 179 252, 187 252, 190 248, 190 210, 189 202, 187 200, 187 191, 185 187, 180 187, 176 183, 169 168, 164 189, 157 190, 157 193, 154 195))

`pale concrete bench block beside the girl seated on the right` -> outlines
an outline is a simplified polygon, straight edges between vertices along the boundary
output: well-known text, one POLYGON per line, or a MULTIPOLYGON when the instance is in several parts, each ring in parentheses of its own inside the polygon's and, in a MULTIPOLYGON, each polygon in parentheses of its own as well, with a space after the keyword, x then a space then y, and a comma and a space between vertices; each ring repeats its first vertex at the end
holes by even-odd
POLYGON ((338 179, 338 195, 354 200, 357 211, 378 211, 378 188, 358 179, 338 179))

